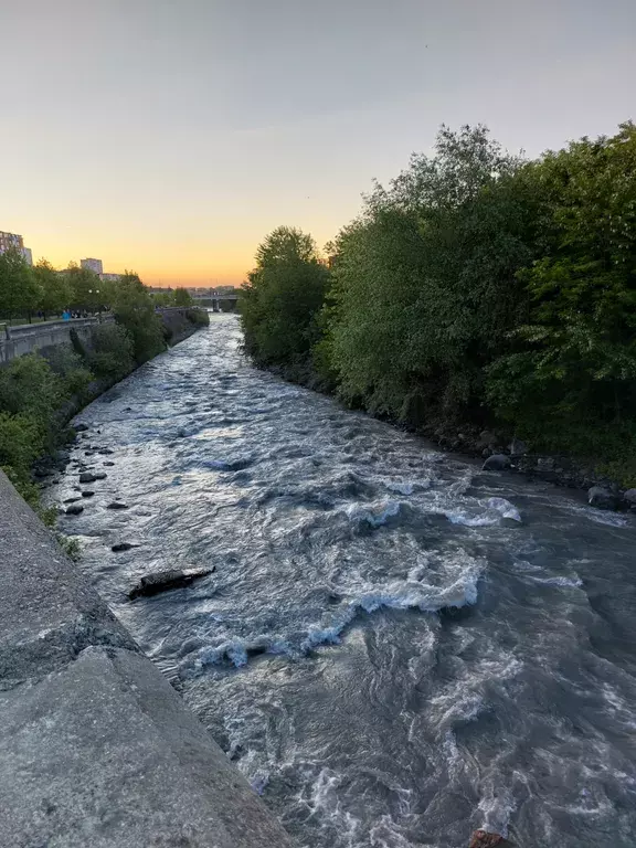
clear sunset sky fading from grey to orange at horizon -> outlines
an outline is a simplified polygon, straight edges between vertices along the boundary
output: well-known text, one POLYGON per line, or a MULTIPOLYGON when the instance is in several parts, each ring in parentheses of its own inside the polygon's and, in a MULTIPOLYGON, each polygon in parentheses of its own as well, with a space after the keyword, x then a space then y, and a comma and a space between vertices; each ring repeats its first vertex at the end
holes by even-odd
POLYGON ((636 117, 636 1, 2 1, 0 71, 0 230, 240 284, 268 231, 322 246, 442 123, 536 155, 636 117))

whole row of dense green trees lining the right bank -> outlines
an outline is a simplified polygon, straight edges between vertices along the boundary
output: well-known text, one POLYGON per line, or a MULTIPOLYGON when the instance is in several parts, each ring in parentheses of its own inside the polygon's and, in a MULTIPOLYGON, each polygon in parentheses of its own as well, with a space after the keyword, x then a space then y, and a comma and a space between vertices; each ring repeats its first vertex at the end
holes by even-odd
POLYGON ((499 428, 636 480, 636 127, 529 161, 443 127, 327 247, 272 233, 255 362, 424 432, 499 428))

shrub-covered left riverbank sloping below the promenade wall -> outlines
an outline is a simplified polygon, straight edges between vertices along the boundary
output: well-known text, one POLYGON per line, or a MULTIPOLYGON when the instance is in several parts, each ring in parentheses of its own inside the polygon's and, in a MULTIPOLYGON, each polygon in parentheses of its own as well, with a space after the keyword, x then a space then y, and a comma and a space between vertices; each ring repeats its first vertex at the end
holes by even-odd
MULTIPOLYGON (((0 467, 39 508, 35 481, 64 469, 75 436, 68 421, 167 344, 209 324, 201 309, 123 312, 116 321, 74 327, 55 343, 0 369, 0 467)), ((42 518, 53 517, 41 512, 42 518)))

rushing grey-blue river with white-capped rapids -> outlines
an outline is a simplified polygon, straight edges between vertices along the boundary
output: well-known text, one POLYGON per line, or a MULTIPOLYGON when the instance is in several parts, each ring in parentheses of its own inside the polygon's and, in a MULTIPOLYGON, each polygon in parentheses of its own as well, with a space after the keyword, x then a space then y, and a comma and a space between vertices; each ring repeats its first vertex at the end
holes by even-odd
POLYGON ((635 519, 481 473, 240 343, 213 317, 80 416, 73 458, 108 477, 60 524, 144 650, 299 846, 462 848, 485 826, 633 848, 635 519), (187 565, 215 572, 128 601, 187 565))

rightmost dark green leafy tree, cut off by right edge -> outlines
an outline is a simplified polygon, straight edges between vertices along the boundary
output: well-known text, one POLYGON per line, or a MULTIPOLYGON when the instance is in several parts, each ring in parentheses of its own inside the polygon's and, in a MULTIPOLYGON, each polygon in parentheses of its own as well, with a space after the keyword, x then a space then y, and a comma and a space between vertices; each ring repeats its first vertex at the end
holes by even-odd
POLYGON ((521 176, 541 256, 530 310, 489 371, 489 400, 536 441, 597 453, 636 418, 636 127, 548 152, 521 176))

